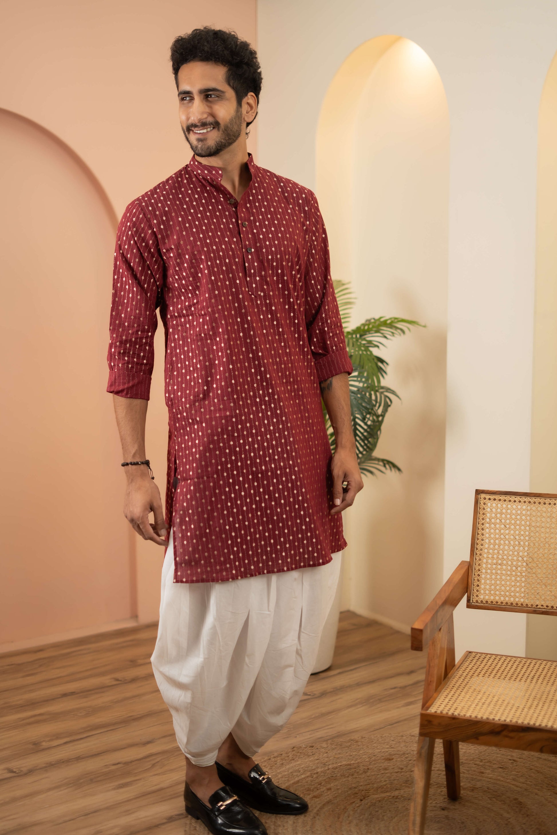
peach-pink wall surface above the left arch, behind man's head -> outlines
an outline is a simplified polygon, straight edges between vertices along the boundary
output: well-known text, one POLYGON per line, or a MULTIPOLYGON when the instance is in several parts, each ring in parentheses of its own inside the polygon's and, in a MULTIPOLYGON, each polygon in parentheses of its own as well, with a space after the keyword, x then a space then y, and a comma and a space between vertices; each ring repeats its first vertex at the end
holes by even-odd
POLYGON ((63 139, 119 215, 187 161, 169 48, 205 24, 255 43, 256 0, 75 0, 4 4, 0 107, 63 139))

